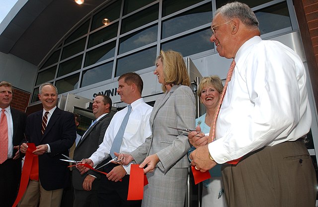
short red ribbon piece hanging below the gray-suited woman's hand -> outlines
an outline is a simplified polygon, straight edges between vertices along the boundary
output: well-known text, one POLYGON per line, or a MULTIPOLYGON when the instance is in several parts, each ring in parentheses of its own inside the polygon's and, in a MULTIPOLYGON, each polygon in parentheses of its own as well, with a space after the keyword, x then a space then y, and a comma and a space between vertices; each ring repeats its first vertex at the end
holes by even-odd
POLYGON ((146 185, 148 185, 148 180, 144 169, 140 168, 138 164, 131 164, 127 201, 142 200, 146 185))

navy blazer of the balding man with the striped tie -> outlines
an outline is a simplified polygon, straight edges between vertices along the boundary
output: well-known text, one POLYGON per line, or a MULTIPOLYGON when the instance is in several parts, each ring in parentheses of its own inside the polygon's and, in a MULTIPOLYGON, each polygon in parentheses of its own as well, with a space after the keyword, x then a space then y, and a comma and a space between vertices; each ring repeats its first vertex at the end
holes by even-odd
POLYGON ((27 117, 25 136, 36 146, 50 145, 50 153, 39 155, 39 179, 42 187, 51 191, 65 188, 69 183, 69 163, 60 159, 65 159, 62 154, 69 155, 76 138, 76 126, 72 113, 56 108, 41 135, 42 114, 43 110, 27 117))

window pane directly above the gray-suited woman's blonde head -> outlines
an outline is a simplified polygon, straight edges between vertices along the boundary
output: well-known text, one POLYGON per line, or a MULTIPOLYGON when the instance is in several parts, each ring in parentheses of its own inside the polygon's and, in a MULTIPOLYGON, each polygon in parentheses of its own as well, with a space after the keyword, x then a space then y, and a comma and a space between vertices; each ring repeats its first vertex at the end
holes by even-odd
POLYGON ((180 52, 184 57, 201 53, 214 48, 214 44, 210 42, 210 37, 211 30, 209 28, 163 43, 161 50, 174 50, 180 52))

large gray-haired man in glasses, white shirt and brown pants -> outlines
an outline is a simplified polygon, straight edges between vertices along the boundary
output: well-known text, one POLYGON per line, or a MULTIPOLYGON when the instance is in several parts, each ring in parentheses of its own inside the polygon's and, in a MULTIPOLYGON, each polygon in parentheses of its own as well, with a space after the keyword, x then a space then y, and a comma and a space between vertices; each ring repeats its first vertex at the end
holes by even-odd
MULTIPOLYGON (((216 141, 193 151, 191 164, 203 172, 241 157, 222 169, 229 207, 315 207, 316 174, 303 142, 312 117, 302 60, 277 41, 261 40, 246 4, 219 8, 211 30, 219 55, 234 59, 236 66, 216 141)), ((202 137, 196 130, 189 140, 199 146, 206 137, 195 137, 202 137)))

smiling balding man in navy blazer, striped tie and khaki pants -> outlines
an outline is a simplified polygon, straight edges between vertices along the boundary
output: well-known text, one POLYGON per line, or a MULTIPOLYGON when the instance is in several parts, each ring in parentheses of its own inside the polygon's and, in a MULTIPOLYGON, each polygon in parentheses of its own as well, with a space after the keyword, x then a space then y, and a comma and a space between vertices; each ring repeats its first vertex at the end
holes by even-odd
MULTIPOLYGON (((36 145, 34 154, 39 157, 39 181, 30 180, 19 207, 60 207, 63 189, 69 184, 68 162, 62 154, 76 138, 74 115, 56 106, 57 88, 44 83, 39 88, 43 110, 30 114, 26 120, 25 136, 36 145)), ((20 151, 25 153, 27 144, 20 151)))

